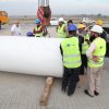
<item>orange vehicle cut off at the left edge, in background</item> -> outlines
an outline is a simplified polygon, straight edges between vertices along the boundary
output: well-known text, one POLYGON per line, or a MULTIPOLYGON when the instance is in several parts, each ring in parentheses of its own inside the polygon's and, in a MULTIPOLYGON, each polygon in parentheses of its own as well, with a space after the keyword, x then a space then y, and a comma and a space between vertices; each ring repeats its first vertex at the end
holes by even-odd
POLYGON ((8 13, 5 11, 0 11, 0 22, 1 25, 9 23, 8 13))

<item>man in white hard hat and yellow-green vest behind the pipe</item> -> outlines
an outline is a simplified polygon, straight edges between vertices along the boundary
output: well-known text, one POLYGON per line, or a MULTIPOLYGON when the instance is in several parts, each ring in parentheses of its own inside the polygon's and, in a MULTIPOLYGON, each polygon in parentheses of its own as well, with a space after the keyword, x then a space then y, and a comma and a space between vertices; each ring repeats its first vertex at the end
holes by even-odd
POLYGON ((63 20, 63 17, 60 17, 59 25, 57 27, 58 38, 65 38, 68 36, 65 28, 66 28, 66 25, 64 24, 64 20, 63 20))

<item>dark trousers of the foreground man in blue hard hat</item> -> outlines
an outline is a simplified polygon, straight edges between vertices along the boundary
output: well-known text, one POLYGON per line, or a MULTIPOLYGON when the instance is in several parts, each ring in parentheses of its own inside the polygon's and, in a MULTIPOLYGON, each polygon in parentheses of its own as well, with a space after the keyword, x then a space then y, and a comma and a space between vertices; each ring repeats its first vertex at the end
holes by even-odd
POLYGON ((68 86, 68 95, 72 95, 75 90, 76 84, 80 81, 78 78, 80 68, 76 69, 68 69, 64 66, 64 73, 62 78, 62 90, 66 90, 68 86))

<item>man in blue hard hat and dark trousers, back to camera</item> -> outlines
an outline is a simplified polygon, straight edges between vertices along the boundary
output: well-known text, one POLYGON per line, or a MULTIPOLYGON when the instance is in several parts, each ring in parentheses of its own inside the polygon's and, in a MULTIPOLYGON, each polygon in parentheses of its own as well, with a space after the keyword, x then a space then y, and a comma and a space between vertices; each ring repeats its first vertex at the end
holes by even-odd
POLYGON ((68 26, 69 37, 61 43, 60 49, 63 61, 62 90, 68 88, 68 96, 71 96, 80 81, 81 47, 82 44, 76 34, 77 27, 74 24, 68 26))

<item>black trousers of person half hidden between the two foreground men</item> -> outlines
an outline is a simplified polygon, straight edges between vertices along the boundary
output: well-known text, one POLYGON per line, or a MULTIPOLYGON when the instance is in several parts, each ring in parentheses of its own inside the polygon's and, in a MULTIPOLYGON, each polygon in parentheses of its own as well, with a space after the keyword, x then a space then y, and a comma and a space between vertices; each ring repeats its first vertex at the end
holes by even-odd
POLYGON ((84 74, 85 69, 87 69, 87 57, 86 57, 86 55, 82 55, 82 65, 81 65, 80 74, 84 74))

